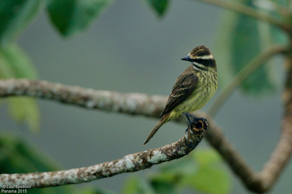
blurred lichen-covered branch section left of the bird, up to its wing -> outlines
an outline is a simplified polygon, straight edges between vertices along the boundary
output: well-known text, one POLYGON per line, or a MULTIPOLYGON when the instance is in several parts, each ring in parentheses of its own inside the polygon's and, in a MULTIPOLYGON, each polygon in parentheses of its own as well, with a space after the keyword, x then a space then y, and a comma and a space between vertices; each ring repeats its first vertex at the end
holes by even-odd
POLYGON ((0 97, 32 96, 79 105, 85 108, 158 117, 165 96, 84 89, 43 80, 0 79, 0 97))

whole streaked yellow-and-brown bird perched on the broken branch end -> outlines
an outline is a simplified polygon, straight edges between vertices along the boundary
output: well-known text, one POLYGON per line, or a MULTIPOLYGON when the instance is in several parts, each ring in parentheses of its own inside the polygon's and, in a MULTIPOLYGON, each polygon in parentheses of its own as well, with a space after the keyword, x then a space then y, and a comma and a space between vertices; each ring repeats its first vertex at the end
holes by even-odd
POLYGON ((217 90, 217 66, 209 48, 204 45, 197 46, 181 60, 189 61, 191 65, 176 79, 165 108, 160 114, 160 120, 143 145, 149 142, 163 124, 181 114, 186 115, 189 124, 194 122, 198 118, 188 112, 202 108, 217 90))

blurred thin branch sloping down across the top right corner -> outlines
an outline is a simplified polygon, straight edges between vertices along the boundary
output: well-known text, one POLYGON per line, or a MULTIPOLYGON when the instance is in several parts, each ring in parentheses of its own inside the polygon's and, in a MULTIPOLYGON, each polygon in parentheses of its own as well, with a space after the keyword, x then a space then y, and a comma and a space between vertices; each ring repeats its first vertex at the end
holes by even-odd
POLYGON ((289 34, 291 34, 292 32, 291 26, 286 24, 283 20, 275 18, 271 14, 261 12, 251 6, 244 5, 237 1, 230 1, 230 0, 227 0, 227 1, 226 0, 197 0, 197 1, 202 1, 208 4, 227 8, 231 11, 235 11, 243 15, 256 18, 261 21, 265 21, 269 24, 272 24, 274 26, 281 28, 282 30, 284 30, 285 32, 288 32, 289 34))

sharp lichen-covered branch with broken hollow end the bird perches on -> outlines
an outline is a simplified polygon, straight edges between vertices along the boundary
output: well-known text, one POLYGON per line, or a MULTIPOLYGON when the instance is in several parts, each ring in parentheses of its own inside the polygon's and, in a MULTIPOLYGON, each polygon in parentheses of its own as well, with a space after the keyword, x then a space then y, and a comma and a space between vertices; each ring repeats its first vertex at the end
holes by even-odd
POLYGON ((49 187, 89 182, 125 172, 143 170, 154 164, 178 159, 190 153, 201 142, 207 127, 207 122, 199 119, 190 124, 183 138, 175 143, 129 154, 112 162, 56 172, 1 174, 0 185, 29 185, 32 188, 49 187))

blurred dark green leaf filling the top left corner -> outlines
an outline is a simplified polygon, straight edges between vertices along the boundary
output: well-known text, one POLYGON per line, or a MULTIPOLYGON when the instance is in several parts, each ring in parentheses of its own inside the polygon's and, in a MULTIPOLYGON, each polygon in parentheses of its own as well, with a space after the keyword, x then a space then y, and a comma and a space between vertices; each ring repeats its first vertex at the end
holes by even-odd
POLYGON ((0 45, 15 41, 39 11, 40 0, 0 1, 0 45))

